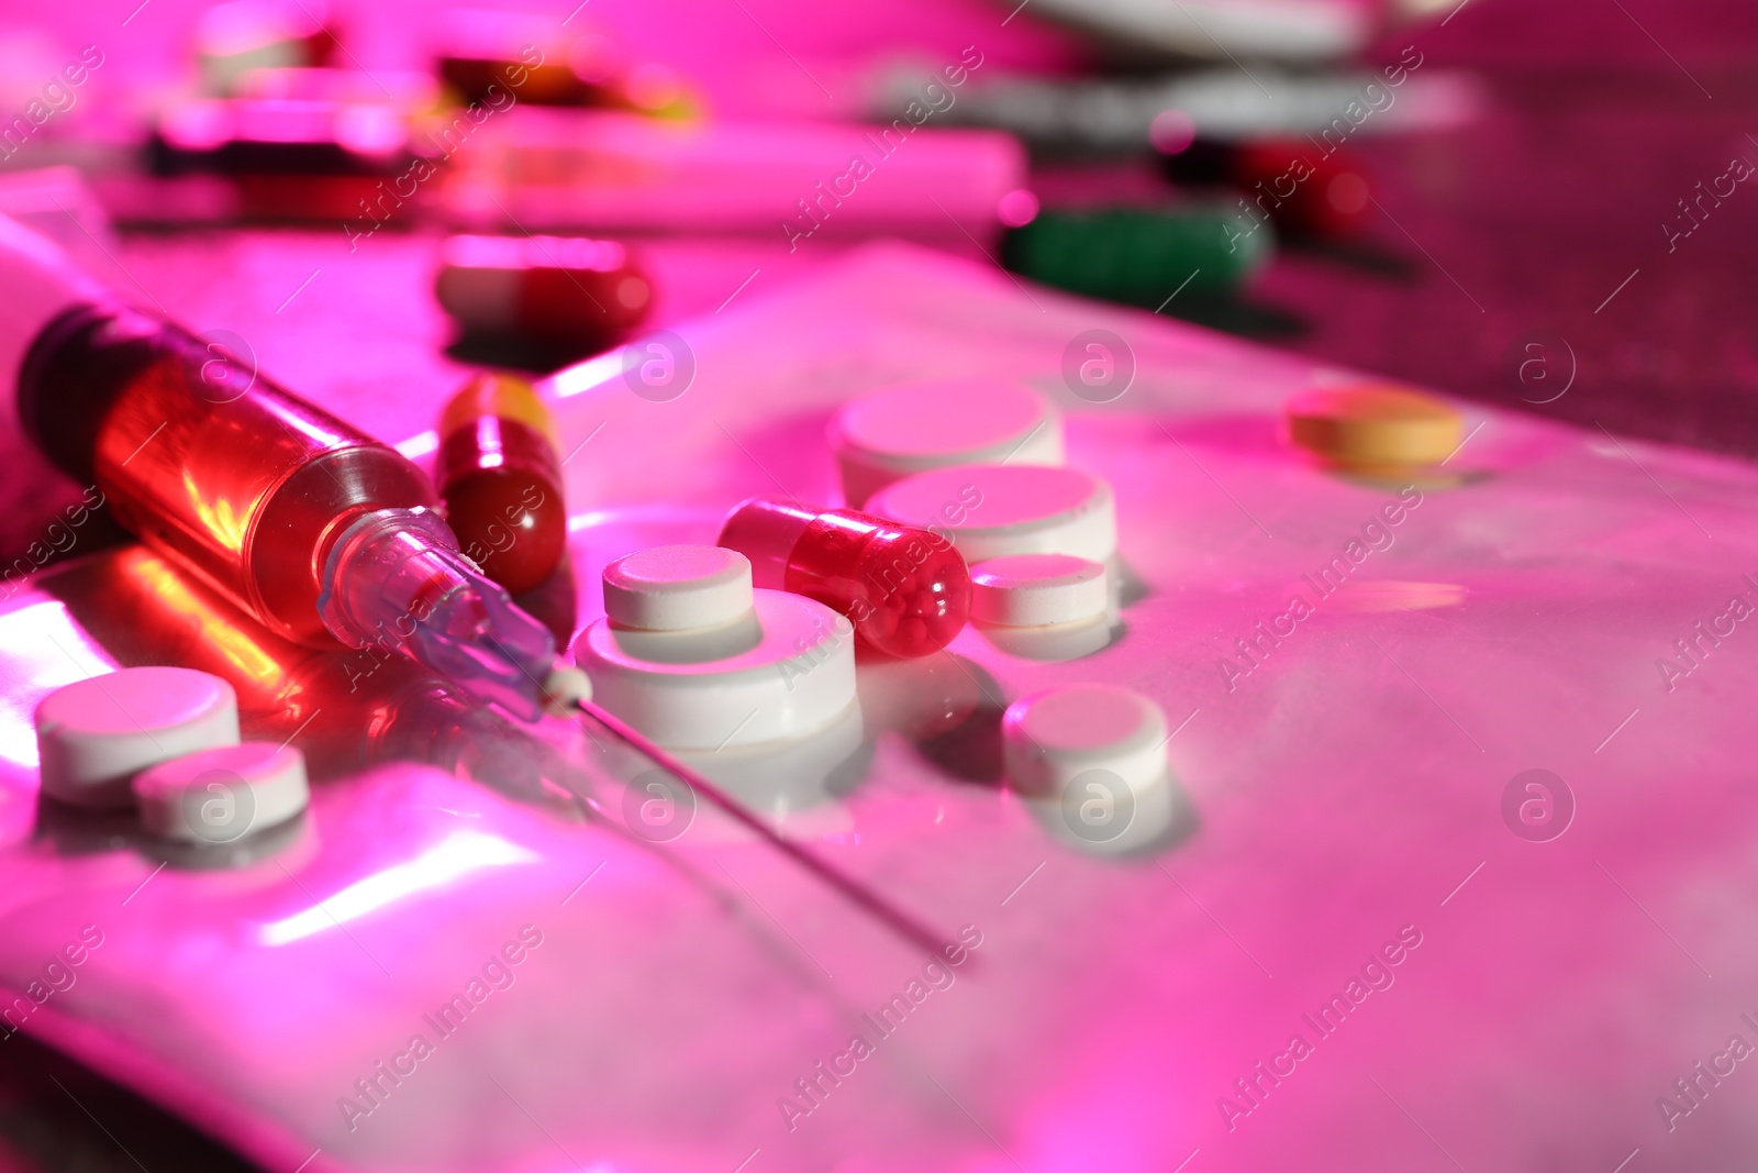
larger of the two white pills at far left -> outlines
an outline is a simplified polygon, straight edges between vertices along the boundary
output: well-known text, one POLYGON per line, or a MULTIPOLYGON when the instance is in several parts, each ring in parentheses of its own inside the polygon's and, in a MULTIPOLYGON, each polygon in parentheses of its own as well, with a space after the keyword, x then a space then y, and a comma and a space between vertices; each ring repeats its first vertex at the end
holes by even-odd
POLYGON ((146 767, 236 744, 237 695, 193 668, 120 668, 37 705, 42 793, 83 807, 125 807, 146 767))

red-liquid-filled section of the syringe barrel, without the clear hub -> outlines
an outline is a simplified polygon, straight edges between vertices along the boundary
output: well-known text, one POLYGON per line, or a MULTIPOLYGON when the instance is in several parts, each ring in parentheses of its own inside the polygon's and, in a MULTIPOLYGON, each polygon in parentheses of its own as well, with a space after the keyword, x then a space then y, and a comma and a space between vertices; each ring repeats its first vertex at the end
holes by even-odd
POLYGON ((378 508, 438 508, 396 450, 185 329, 79 306, 19 373, 19 422, 116 519, 283 638, 329 644, 331 543, 378 508))

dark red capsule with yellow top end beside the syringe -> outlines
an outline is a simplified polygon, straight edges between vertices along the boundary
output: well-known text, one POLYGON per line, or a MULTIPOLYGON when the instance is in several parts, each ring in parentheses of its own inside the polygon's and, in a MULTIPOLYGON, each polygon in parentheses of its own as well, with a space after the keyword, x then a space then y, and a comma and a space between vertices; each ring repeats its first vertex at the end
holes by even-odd
POLYGON ((440 417, 436 461, 447 522, 464 556, 519 594, 540 586, 568 547, 556 422, 531 383, 478 375, 440 417))

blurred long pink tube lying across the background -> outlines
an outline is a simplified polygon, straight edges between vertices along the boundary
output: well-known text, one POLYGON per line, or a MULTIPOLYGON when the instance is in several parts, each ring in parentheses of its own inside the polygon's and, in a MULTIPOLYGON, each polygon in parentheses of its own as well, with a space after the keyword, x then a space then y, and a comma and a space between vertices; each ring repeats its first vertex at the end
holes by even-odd
POLYGON ((710 120, 684 128, 520 102, 483 121, 450 167, 443 211, 461 225, 749 232, 795 253, 875 234, 988 248, 1027 158, 1013 135, 988 130, 710 120))

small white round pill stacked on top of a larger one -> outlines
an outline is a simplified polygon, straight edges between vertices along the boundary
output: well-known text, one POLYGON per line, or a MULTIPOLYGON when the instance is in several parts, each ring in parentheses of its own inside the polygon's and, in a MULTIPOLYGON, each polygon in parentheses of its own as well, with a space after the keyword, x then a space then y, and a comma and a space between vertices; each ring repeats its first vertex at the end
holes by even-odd
POLYGON ((691 631, 751 612, 751 559, 723 545, 656 545, 605 566, 605 614, 638 631, 691 631))

